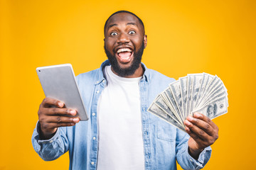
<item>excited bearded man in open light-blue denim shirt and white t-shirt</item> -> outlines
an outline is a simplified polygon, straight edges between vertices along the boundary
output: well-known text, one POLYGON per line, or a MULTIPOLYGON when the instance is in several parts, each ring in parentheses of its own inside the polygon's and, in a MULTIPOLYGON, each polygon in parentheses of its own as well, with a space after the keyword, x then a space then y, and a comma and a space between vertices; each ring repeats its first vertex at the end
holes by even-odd
POLYGON ((176 169, 176 160, 183 169, 201 169, 217 125, 195 113, 184 121, 187 134, 148 113, 174 79, 141 63, 147 39, 134 13, 113 13, 104 31, 108 60, 77 77, 90 119, 70 118, 76 112, 65 103, 45 98, 32 137, 36 152, 49 161, 69 151, 70 169, 176 169))

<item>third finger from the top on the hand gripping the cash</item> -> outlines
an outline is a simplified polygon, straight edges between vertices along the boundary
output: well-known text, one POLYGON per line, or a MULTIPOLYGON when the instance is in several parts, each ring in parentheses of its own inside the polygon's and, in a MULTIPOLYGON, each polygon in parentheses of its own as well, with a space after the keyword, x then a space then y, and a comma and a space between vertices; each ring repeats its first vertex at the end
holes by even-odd
MULTIPOLYGON (((202 121, 202 120, 201 120, 202 121)), ((187 128, 189 128, 189 130, 191 132, 193 132, 194 135, 196 135, 197 137, 199 137, 201 140, 206 141, 210 139, 210 135, 208 135, 207 132, 205 132, 204 130, 202 130, 201 128, 198 128, 197 125, 193 125, 191 122, 189 122, 188 120, 184 121, 184 124, 186 125, 187 128)), ((191 136, 192 137, 192 136, 191 136)))

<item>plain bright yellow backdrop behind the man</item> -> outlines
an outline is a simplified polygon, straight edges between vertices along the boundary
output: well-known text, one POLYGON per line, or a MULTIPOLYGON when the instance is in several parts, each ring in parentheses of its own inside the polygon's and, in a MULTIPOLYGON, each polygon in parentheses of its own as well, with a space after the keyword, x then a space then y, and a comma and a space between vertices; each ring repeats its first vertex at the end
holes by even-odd
POLYGON ((44 98, 36 67, 100 67, 104 23, 122 9, 144 21, 147 67, 175 79, 217 74, 227 87, 230 107, 213 120, 220 137, 205 169, 255 169, 255 2, 0 0, 0 169, 68 169, 68 154, 44 162, 31 145, 44 98))

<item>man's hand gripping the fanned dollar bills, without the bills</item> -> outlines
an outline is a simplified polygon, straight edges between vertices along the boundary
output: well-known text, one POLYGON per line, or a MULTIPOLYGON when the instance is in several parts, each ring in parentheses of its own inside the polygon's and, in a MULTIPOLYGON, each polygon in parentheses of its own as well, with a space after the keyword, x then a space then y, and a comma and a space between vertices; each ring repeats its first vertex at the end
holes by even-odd
POLYGON ((191 136, 188 140, 188 148, 191 156, 198 159, 204 148, 213 145, 218 139, 218 126, 210 118, 201 113, 194 113, 184 121, 186 132, 191 136))

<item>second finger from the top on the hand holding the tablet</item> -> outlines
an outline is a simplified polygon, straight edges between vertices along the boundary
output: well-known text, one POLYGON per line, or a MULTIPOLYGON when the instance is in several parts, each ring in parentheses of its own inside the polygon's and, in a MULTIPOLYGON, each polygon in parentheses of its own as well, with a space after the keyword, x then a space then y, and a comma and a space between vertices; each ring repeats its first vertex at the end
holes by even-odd
POLYGON ((76 115, 77 111, 70 108, 41 108, 40 113, 45 115, 76 115))

